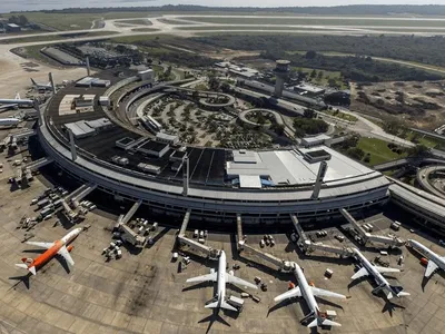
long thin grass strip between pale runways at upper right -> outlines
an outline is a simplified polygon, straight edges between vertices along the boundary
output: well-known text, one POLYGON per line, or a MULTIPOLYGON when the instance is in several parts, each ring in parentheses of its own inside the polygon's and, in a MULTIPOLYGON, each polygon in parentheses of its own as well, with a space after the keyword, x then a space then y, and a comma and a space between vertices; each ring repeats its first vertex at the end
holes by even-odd
POLYGON ((433 20, 408 20, 408 19, 385 19, 385 18, 332 18, 332 17, 314 17, 314 18, 208 18, 208 17, 184 17, 185 20, 218 23, 218 24, 304 24, 304 26, 358 26, 358 27, 432 27, 443 28, 444 21, 433 20))

